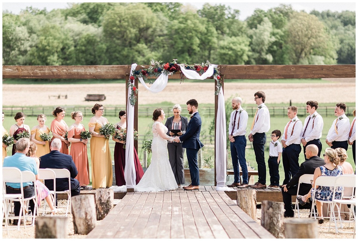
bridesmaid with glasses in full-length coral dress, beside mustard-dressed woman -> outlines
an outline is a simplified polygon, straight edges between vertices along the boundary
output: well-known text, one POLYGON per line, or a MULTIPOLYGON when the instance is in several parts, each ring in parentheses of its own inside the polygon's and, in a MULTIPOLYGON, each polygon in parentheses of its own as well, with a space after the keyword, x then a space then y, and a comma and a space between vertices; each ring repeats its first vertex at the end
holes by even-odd
POLYGON ((75 122, 69 126, 68 129, 68 141, 71 142, 71 150, 69 155, 72 156, 73 162, 77 167, 78 174, 76 179, 79 181, 79 185, 82 189, 89 189, 89 166, 87 157, 87 142, 88 139, 81 138, 81 131, 86 131, 83 124, 83 115, 80 111, 71 113, 71 118, 75 122))

